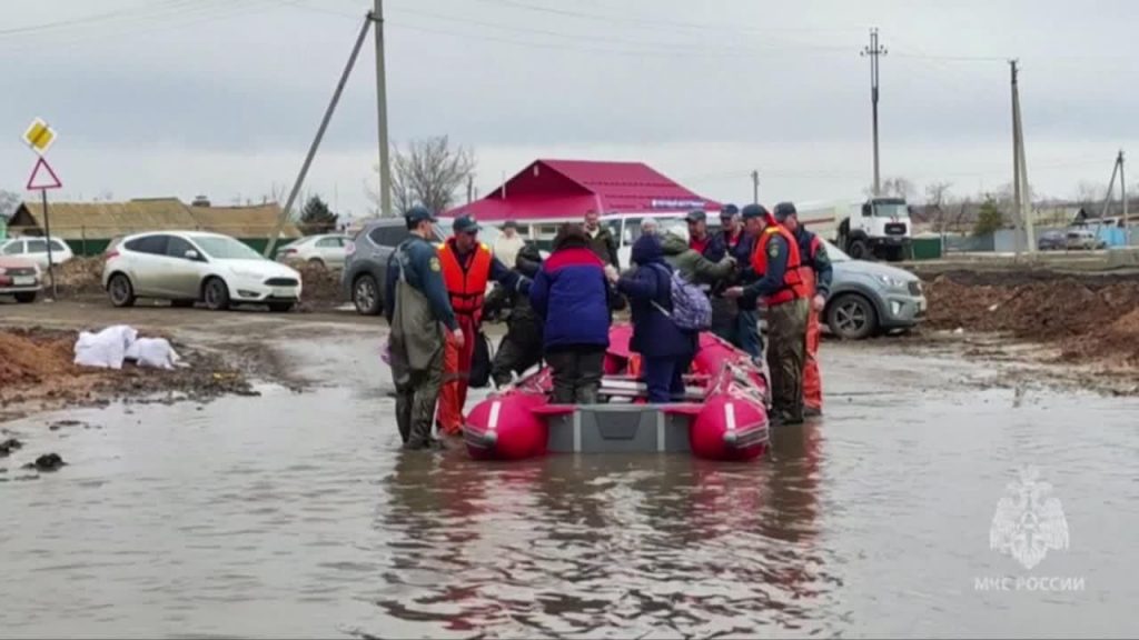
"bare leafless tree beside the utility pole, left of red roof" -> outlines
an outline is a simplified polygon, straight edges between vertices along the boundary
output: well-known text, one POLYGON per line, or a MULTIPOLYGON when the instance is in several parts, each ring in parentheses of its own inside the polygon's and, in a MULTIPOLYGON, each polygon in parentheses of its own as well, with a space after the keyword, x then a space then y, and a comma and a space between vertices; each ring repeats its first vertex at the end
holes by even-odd
MULTIPOLYGON (((460 187, 474 174, 474 151, 451 147, 446 136, 412 140, 407 149, 392 145, 392 205, 395 211, 379 213, 394 215, 415 205, 443 212, 458 202, 460 187)), ((368 197, 378 205, 379 195, 370 188, 368 197)))

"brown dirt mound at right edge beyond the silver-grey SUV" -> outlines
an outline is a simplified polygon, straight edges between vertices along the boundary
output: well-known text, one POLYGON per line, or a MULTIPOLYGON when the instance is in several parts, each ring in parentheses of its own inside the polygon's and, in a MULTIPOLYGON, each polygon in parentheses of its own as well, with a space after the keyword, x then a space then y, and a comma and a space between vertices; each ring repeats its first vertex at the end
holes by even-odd
POLYGON ((928 327, 1058 343, 1062 358, 1071 361, 1139 364, 1139 279, 988 280, 944 274, 928 282, 928 327))

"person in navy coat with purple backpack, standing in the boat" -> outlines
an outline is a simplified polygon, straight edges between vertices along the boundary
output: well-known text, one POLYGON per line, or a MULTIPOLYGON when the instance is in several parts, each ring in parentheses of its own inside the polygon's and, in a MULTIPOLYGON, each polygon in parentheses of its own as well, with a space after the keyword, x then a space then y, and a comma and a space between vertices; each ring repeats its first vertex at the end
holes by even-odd
POLYGON ((697 333, 677 327, 672 309, 672 266, 664 261, 657 236, 641 236, 632 248, 637 268, 617 280, 629 298, 633 336, 629 348, 641 355, 644 379, 652 403, 683 399, 683 375, 696 354, 697 333))

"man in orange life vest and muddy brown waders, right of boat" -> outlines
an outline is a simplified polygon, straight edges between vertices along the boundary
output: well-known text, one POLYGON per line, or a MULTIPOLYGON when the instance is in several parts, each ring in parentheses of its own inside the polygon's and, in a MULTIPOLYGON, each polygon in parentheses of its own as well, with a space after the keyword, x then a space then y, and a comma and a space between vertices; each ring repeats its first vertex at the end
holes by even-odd
POLYGON ((740 213, 744 228, 755 237, 752 271, 759 279, 746 287, 731 287, 723 295, 759 296, 767 305, 771 422, 802 424, 809 304, 800 269, 798 244, 762 205, 747 205, 740 213))

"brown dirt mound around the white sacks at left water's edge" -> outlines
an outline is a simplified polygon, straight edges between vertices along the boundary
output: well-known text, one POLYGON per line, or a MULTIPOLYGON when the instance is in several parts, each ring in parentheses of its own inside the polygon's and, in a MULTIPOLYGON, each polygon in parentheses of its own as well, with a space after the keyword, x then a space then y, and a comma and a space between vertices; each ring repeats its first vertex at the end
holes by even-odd
POLYGON ((206 402, 222 395, 256 395, 240 369, 222 354, 174 344, 187 367, 172 371, 90 369, 74 362, 76 331, 0 329, 0 419, 40 407, 132 402, 206 402))

